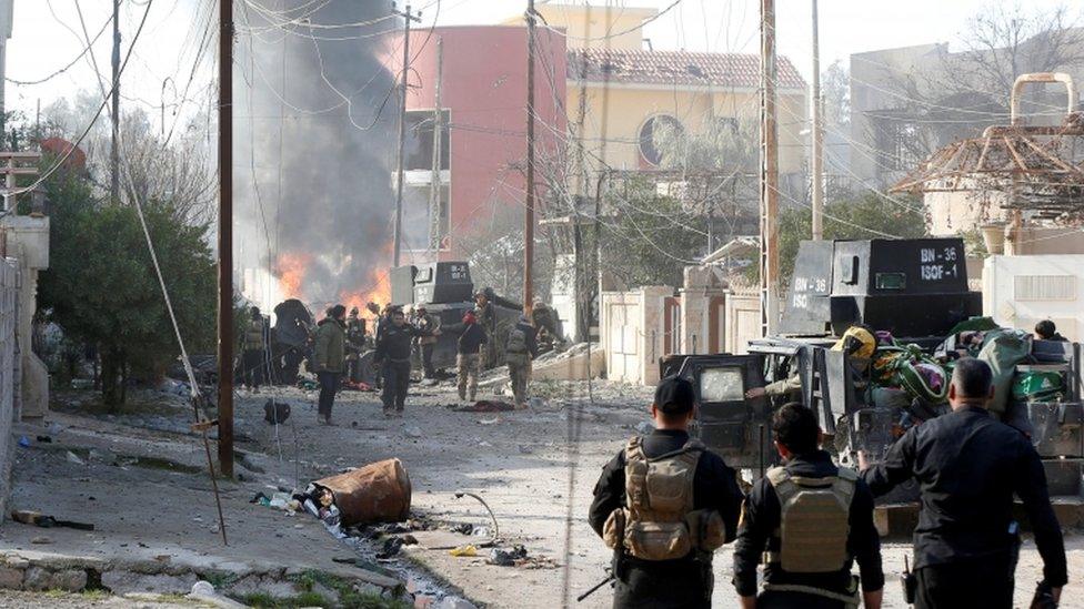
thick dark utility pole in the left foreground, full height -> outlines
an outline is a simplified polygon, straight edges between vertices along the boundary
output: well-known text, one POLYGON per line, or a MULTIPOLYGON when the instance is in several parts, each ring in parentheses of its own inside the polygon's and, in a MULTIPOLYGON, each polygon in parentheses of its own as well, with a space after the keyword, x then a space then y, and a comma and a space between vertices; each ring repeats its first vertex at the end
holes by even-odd
MULTIPOLYGON (((116 99, 116 98, 114 98, 116 99)), ((116 116, 116 114, 113 114, 116 116)), ((233 477, 233 0, 219 0, 219 468, 233 477)))

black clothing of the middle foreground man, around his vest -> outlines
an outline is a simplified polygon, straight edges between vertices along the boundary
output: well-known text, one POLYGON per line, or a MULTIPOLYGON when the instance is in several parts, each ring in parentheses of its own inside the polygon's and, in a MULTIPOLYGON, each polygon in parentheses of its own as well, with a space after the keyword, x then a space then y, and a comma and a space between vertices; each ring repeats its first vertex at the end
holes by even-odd
MULTIPOLYGON (((806 478, 826 478, 839 473, 832 458, 823 450, 792 457, 785 467, 791 476, 806 478)), ((782 508, 775 488, 767 478, 761 478, 753 485, 742 509, 737 542, 734 545, 734 588, 739 596, 752 597, 756 596, 756 566, 761 562, 761 556, 765 550, 780 551, 782 508)), ((881 539, 873 524, 873 494, 862 480, 855 484, 849 520, 847 554, 852 560, 847 560, 843 569, 827 574, 791 574, 779 565, 769 564, 764 566, 764 581, 806 586, 846 596, 850 593, 851 566, 856 560, 862 576, 862 589, 882 589, 884 572, 881 570, 881 539)), ((842 608, 843 602, 800 592, 769 591, 757 599, 756 606, 827 609, 842 608)))

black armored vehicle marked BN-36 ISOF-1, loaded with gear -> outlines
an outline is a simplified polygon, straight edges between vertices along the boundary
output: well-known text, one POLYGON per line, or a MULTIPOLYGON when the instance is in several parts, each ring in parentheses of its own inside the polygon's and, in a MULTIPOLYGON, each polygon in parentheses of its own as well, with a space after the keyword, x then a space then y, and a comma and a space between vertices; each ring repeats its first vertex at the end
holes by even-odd
MULTIPOLYGON (((870 390, 870 361, 833 346, 847 328, 862 324, 891 333, 895 345, 914 345, 906 348, 915 357, 932 357, 946 338, 975 322, 981 302, 981 294, 967 288, 960 238, 807 241, 799 248, 777 335, 750 342, 742 355, 668 356, 660 362, 661 373, 693 382, 700 392, 701 438, 727 463, 754 475, 775 459, 771 413, 790 400, 817 414, 825 447, 839 463, 853 466, 859 450, 875 463, 907 428, 946 406, 943 398, 879 399, 885 394, 870 390), (799 388, 789 395, 745 397, 751 388, 794 376, 799 388)), ((1016 374, 1054 375, 1061 389, 1053 398, 1014 404, 1014 420, 1006 423, 1031 435, 1052 495, 1082 497, 1081 346, 1026 344, 1026 365, 1017 366, 1016 374)), ((890 495, 884 500, 901 499, 890 495)))

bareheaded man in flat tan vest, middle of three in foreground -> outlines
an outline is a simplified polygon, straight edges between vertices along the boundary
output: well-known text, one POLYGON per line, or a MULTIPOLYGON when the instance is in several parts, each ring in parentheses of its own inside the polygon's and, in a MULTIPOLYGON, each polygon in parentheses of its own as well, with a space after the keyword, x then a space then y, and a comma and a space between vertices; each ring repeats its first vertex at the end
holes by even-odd
POLYGON ((734 587, 744 609, 881 607, 884 574, 873 494, 819 448, 813 410, 797 403, 772 417, 783 465, 767 470, 742 506, 734 587), (851 575, 857 561, 861 580, 851 575), (756 566, 764 591, 756 596, 756 566), (861 587, 860 587, 861 582, 861 587))

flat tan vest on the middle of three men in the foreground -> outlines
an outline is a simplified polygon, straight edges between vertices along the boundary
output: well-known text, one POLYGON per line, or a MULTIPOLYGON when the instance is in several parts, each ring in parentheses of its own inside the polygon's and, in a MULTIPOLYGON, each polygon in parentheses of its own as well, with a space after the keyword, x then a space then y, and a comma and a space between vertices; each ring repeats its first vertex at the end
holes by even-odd
POLYGON ((779 496, 780 551, 765 552, 764 562, 777 562, 793 574, 837 571, 850 558, 846 549, 849 515, 859 476, 840 468, 836 476, 791 476, 783 467, 767 470, 779 496))

